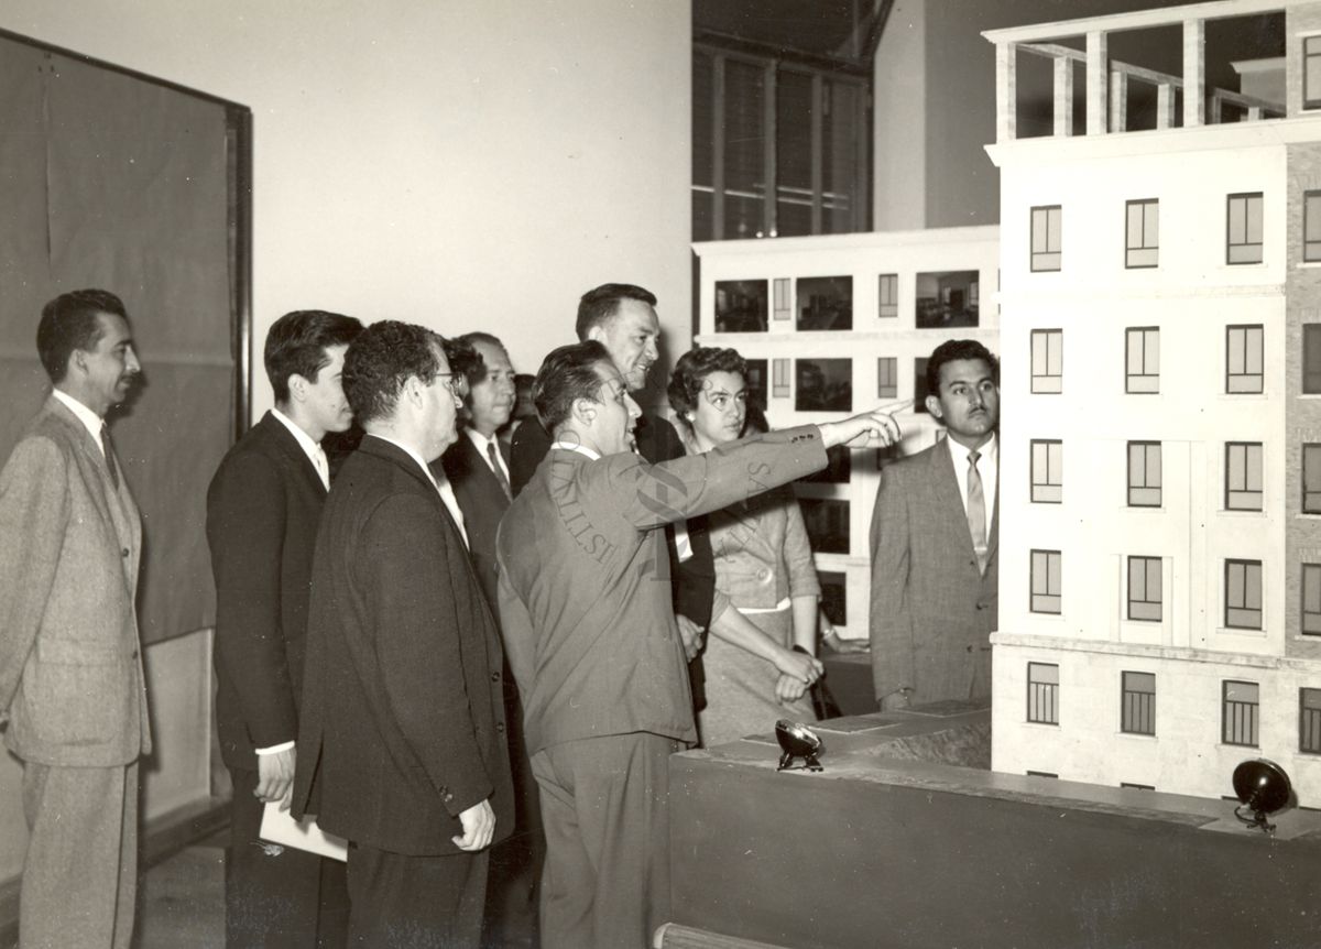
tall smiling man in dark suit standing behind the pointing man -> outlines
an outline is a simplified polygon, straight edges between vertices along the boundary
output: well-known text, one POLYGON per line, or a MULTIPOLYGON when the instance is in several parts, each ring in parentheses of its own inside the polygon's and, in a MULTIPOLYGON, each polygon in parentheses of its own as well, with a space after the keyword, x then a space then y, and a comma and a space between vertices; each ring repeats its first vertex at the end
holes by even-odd
MULTIPOLYGON (((647 385, 647 371, 660 358, 657 341, 660 321, 657 319, 657 297, 642 287, 629 283, 606 283, 589 289, 579 300, 575 329, 580 341, 596 340, 610 354, 630 393, 639 393, 647 385)), ((674 426, 654 412, 643 412, 634 427, 633 439, 638 455, 658 464, 683 457, 683 440, 674 426)), ((551 447, 551 436, 536 420, 528 419, 514 432, 511 455, 511 484, 515 497, 536 472, 551 447)), ((679 521, 666 526, 670 572, 672 578, 672 605, 690 660, 701 648, 701 637, 727 605, 716 603, 716 568, 711 555, 711 538, 705 518, 690 525, 679 521)), ((721 597, 723 599, 723 597, 721 597)), ((695 683, 700 683, 700 661, 692 669, 695 683)), ((700 704, 700 698, 699 698, 700 704)))

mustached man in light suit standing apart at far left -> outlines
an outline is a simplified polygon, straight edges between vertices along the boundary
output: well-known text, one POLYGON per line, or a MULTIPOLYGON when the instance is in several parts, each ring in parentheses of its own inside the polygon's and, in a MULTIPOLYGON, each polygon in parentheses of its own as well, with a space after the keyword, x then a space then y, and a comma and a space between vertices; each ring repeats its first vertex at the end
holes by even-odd
POLYGON ((0 471, 0 727, 29 830, 18 936, 127 949, 151 735, 141 527, 106 414, 140 367, 124 304, 99 289, 48 303, 37 350, 53 393, 0 471))

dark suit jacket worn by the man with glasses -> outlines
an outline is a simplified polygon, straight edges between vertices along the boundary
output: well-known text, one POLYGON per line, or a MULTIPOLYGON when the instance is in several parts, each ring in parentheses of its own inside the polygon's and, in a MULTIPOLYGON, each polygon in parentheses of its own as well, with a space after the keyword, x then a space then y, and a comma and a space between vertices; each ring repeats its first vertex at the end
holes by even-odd
POLYGON ((513 789, 495 623, 417 463, 366 436, 339 469, 312 566, 296 816, 355 843, 461 853, 458 814, 513 789))

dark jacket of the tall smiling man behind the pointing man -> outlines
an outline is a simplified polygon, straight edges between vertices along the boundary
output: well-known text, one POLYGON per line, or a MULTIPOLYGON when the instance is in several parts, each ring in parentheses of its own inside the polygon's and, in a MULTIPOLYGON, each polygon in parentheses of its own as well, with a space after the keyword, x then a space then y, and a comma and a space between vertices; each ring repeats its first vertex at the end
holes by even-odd
MULTIPOLYGON (((672 461, 683 457, 687 451, 679 434, 674 431, 674 426, 659 415, 643 414, 638 419, 633 435, 638 444, 638 455, 651 464, 672 461)), ((518 493, 531 480, 550 448, 551 436, 546 434, 542 423, 536 419, 528 419, 514 432, 509 468, 514 497, 518 497, 518 493)), ((696 517, 688 522, 688 543, 692 549, 692 556, 687 560, 679 560, 671 525, 666 525, 666 541, 670 545, 670 576, 674 578, 674 611, 705 629, 711 625, 712 600, 716 599, 716 567, 711 556, 707 519, 696 517)), ((724 597, 720 599, 723 608, 728 601, 724 597)))

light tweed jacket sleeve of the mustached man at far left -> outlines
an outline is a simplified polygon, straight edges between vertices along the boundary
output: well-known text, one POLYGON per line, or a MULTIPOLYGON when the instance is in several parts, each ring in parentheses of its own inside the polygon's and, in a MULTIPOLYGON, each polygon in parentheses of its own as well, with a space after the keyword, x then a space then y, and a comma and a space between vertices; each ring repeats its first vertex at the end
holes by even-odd
POLYGON ((0 723, 41 629, 67 519, 69 459, 50 439, 24 439, 0 472, 0 723))

